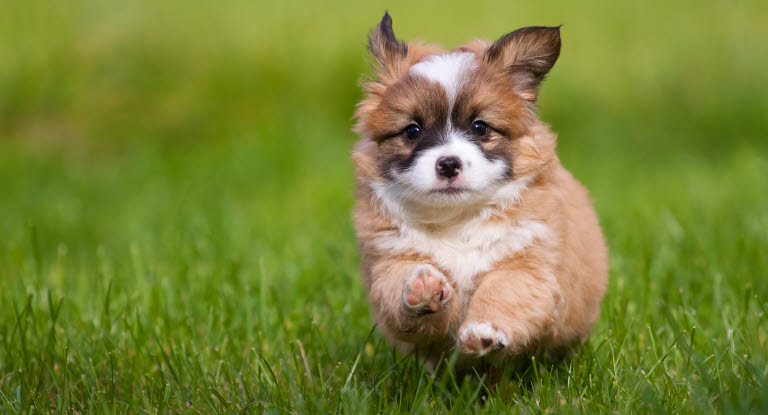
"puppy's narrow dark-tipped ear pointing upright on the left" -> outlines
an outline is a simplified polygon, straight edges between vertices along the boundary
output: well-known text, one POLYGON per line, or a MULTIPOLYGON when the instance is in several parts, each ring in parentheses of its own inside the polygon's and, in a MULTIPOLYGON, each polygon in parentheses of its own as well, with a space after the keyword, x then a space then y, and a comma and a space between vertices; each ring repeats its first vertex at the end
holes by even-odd
POLYGON ((368 36, 368 51, 378 64, 377 73, 382 80, 396 78, 403 69, 408 45, 395 38, 388 12, 384 12, 381 22, 368 36))

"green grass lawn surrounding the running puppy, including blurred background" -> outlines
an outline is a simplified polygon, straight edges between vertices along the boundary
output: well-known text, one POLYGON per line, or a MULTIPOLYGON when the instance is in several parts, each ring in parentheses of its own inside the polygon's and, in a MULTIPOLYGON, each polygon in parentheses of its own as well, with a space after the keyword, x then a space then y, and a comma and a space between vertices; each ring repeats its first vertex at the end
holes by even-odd
POLYGON ((5 4, 0 413, 768 412, 766 4, 411 3, 5 4), (385 7, 446 45, 565 24, 541 116, 611 280, 560 367, 489 390, 371 331, 349 130, 385 7))

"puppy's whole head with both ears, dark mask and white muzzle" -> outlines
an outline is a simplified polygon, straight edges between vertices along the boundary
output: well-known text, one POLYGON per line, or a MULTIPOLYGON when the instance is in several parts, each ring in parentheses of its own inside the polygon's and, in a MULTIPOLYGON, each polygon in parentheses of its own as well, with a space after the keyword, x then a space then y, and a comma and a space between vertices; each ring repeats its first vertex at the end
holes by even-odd
POLYGON ((354 159, 360 175, 390 194, 478 203, 555 157, 554 136, 537 134, 535 101, 560 53, 559 27, 526 27, 446 52, 398 41, 385 14, 369 51, 376 79, 356 114, 363 139, 354 159))

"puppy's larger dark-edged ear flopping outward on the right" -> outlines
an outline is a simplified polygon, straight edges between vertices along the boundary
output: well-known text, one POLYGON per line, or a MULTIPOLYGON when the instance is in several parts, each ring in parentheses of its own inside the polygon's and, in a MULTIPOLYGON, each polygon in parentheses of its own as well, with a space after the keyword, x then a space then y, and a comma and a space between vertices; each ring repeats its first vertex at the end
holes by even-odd
POLYGON ((535 102, 538 87, 560 56, 560 26, 530 26, 507 33, 485 51, 485 61, 506 73, 517 93, 535 102))

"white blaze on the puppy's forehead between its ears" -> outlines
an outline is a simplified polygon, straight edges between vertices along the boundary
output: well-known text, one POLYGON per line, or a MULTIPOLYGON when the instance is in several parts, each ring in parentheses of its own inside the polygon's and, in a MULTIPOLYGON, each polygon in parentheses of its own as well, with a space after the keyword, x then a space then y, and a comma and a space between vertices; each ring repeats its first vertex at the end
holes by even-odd
POLYGON ((445 88, 451 103, 461 87, 467 71, 475 68, 475 55, 469 52, 452 52, 442 55, 432 55, 413 65, 411 71, 445 88))

